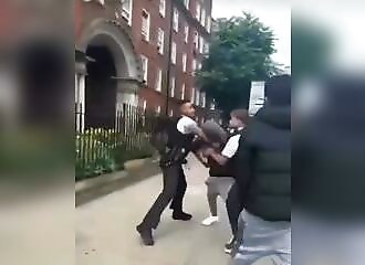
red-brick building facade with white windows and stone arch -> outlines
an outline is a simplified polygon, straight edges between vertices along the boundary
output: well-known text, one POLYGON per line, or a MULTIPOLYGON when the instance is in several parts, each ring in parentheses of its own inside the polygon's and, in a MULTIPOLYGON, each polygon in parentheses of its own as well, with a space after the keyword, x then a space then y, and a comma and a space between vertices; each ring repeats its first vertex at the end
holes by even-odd
MULTIPOLYGON (((210 103, 195 72, 209 53, 211 0, 76 0, 75 98, 86 126, 124 103, 176 115, 191 100, 200 120, 210 103)), ((102 117, 104 116, 104 117, 102 117)))

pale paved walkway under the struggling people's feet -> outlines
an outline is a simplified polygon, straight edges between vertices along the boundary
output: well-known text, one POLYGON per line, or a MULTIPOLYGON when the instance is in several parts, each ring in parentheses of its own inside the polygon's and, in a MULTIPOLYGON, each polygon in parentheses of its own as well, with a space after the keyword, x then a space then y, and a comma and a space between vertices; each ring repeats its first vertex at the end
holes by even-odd
POLYGON ((167 210, 155 233, 156 245, 142 245, 135 225, 160 191, 161 177, 152 177, 77 208, 77 265, 227 265, 222 246, 229 237, 228 218, 220 204, 222 221, 200 225, 208 214, 208 172, 195 161, 189 165, 185 210, 194 214, 192 221, 173 221, 167 210))

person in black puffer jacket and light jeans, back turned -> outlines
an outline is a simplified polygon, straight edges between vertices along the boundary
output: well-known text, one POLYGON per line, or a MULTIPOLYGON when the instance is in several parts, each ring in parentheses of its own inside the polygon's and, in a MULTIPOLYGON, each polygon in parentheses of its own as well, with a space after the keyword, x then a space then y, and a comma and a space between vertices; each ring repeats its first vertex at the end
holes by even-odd
POLYGON ((267 102, 251 119, 238 150, 237 183, 244 225, 234 265, 274 256, 291 261, 291 77, 265 82, 267 102))

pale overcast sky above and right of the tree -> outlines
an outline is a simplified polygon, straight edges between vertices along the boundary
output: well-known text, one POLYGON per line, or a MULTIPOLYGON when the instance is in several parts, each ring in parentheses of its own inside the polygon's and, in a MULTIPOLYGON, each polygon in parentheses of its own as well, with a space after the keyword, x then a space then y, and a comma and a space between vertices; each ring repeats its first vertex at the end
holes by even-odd
POLYGON ((281 64, 291 65, 291 6, 283 0, 212 0, 212 17, 230 18, 242 11, 258 17, 270 26, 275 36, 278 52, 272 59, 281 64), (274 2, 274 3, 273 3, 274 2))

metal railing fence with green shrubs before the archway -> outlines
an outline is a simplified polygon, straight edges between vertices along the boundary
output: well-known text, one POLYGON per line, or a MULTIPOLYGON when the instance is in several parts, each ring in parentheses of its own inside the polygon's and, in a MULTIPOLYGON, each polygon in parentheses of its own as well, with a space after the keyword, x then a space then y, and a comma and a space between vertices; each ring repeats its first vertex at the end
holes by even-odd
POLYGON ((76 179, 114 171, 126 160, 152 156, 149 138, 158 120, 157 114, 124 104, 112 117, 113 125, 91 126, 90 117, 81 109, 76 104, 76 179))

